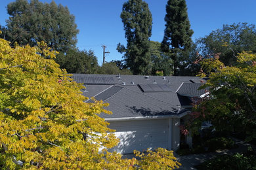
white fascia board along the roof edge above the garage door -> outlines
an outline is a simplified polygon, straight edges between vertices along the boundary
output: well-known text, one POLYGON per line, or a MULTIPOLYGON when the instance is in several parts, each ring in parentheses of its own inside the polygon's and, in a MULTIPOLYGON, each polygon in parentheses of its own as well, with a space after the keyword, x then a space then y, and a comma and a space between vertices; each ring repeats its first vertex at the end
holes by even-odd
POLYGON ((182 118, 186 116, 190 111, 183 112, 179 115, 163 115, 163 116, 137 116, 137 117, 125 117, 125 118, 105 118, 106 122, 115 121, 127 121, 127 120, 150 120, 150 119, 161 119, 161 118, 182 118))

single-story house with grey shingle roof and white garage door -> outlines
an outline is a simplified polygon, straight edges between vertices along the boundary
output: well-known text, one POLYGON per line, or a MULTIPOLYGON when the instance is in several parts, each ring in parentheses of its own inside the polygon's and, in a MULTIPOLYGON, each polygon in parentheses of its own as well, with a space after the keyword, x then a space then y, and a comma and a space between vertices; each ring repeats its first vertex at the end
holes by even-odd
POLYGON ((100 114, 120 141, 110 151, 177 150, 181 142, 192 143, 190 137, 181 137, 179 126, 192 108, 192 98, 205 93, 198 90, 204 82, 199 77, 74 74, 72 78, 86 87, 83 95, 110 103, 106 109, 113 114, 100 114))

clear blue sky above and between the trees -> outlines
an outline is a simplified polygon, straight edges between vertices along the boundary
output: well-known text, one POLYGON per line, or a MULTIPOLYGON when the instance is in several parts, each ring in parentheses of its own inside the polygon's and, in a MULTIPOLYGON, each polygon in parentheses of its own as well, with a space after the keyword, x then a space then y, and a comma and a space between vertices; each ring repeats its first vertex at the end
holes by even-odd
MULTIPOLYGON (((14 0, 1 0, 0 25, 9 18, 7 5, 14 0)), ((51 3, 52 0, 40 0, 51 3)), ((92 49, 102 64, 102 44, 106 45, 106 61, 122 59, 116 50, 118 42, 126 44, 120 13, 127 0, 55 0, 67 6, 75 16, 79 29, 77 47, 79 50, 92 49)), ((165 29, 165 5, 167 0, 146 0, 152 13, 152 37, 150 40, 161 42, 165 29)), ((188 18, 194 31, 193 40, 204 37, 223 27, 223 24, 248 22, 256 24, 256 0, 186 0, 188 18)))

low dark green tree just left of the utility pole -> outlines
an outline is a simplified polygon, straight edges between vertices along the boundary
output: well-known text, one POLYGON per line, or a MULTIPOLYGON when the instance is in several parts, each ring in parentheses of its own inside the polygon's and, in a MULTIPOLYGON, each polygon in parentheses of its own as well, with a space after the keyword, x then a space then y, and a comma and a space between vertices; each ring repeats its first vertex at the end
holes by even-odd
POLYGON ((98 60, 92 50, 80 51, 70 49, 65 54, 61 52, 56 56, 56 62, 61 69, 68 73, 96 74, 98 72, 98 60))

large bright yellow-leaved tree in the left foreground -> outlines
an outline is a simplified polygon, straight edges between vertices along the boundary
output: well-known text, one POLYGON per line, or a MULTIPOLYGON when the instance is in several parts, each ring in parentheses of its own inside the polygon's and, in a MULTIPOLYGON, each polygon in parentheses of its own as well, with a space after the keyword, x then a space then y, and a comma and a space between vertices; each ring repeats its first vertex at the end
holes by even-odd
POLYGON ((158 149, 141 160, 121 159, 108 148, 118 142, 98 114, 108 104, 85 103, 81 84, 59 69, 44 42, 18 46, 0 39, 1 169, 174 169, 172 151, 158 149), (98 148, 105 150, 98 152, 98 148))

